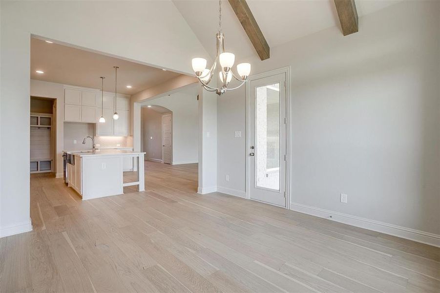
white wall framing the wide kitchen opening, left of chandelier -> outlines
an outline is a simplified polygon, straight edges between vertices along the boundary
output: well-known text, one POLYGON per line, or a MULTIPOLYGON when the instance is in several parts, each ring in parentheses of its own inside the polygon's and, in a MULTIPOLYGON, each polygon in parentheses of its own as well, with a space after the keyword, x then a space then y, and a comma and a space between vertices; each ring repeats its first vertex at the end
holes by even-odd
POLYGON ((178 72, 192 72, 193 56, 209 56, 171 1, 1 1, 0 5, 1 236, 31 229, 31 34, 178 72))

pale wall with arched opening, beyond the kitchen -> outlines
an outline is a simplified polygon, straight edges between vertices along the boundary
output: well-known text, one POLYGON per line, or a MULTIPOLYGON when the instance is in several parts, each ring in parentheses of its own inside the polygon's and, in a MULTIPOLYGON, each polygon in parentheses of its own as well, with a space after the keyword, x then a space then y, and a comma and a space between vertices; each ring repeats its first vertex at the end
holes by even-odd
POLYGON ((148 103, 163 106, 172 111, 172 164, 197 163, 197 95, 177 92, 170 96, 149 100, 148 103))

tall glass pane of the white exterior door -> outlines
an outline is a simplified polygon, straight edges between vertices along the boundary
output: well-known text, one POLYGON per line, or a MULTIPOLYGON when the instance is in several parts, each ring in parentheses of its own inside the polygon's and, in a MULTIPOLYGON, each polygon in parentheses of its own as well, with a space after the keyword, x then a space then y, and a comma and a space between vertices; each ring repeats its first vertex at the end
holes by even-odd
POLYGON ((279 84, 259 86, 255 99, 255 181, 257 187, 280 186, 279 84))

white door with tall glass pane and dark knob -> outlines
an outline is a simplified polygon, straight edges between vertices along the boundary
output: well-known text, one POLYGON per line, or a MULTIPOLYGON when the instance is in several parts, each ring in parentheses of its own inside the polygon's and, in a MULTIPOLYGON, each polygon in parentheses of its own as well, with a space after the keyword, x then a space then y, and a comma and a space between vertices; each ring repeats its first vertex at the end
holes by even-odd
POLYGON ((250 82, 250 197, 286 207, 286 74, 250 82))

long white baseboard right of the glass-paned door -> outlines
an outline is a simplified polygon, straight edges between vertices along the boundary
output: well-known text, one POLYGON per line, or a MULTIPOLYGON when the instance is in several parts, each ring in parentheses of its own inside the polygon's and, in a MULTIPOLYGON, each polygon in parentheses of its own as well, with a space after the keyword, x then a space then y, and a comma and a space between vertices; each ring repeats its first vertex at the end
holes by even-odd
POLYGON ((317 216, 320 218, 329 219, 343 224, 352 225, 355 227, 373 230, 400 238, 405 238, 420 243, 440 247, 440 235, 424 232, 420 230, 415 230, 406 227, 400 227, 393 224, 383 223, 375 220, 365 219, 361 217, 356 217, 349 214, 344 214, 332 210, 320 209, 311 206, 301 205, 292 203, 290 209, 298 211, 301 213, 317 216), (330 216, 332 216, 330 218, 330 216))

